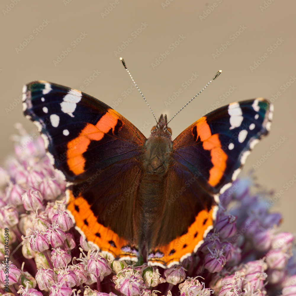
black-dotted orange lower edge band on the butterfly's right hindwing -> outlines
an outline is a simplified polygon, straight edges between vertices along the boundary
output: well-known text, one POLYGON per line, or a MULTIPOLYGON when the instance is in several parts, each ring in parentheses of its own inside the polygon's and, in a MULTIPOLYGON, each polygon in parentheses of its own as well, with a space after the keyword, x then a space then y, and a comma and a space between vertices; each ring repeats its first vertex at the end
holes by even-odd
MULTIPOLYGON (((153 263, 160 263, 168 266, 170 263, 180 261, 185 255, 196 252, 197 248, 202 244, 204 234, 210 231, 213 225, 213 214, 217 206, 213 206, 210 211, 202 210, 195 217, 195 221, 189 226, 188 232, 181 237, 177 237, 165 246, 155 248, 164 254, 161 258, 153 258, 153 263), (194 250, 195 249, 195 250, 194 250)), ((184 258, 183 258, 184 259, 184 258)))

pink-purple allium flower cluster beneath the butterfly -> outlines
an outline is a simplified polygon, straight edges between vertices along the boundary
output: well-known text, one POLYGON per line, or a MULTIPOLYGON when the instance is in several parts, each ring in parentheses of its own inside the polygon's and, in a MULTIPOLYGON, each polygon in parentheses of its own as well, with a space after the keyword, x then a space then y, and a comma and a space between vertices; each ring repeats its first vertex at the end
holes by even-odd
POLYGON ((17 127, 15 155, 0 168, 0 296, 296 295, 294 238, 269 212, 271 194, 251 193, 250 177, 220 196, 196 254, 165 270, 137 266, 103 257, 75 230, 63 175, 42 138, 17 127))

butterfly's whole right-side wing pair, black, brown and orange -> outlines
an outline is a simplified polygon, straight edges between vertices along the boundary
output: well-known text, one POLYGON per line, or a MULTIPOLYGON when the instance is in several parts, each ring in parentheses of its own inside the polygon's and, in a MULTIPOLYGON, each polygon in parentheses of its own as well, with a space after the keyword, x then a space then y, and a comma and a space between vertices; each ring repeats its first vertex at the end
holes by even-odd
POLYGON ((155 234, 150 264, 171 266, 197 251, 213 227, 218 194, 231 185, 250 150, 268 133, 272 111, 272 104, 262 98, 232 103, 176 137, 162 231, 155 234))

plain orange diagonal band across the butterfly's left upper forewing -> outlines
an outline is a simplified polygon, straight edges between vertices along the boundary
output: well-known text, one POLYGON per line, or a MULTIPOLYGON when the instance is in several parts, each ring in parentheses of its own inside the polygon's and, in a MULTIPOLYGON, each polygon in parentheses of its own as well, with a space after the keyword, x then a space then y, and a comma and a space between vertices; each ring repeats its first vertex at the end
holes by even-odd
POLYGON ((116 115, 117 112, 112 111, 114 110, 109 109, 96 125, 88 123, 80 132, 79 136, 68 143, 67 164, 75 175, 84 172, 85 159, 83 153, 86 152, 91 140, 99 141, 111 128, 114 130, 119 118, 116 115))

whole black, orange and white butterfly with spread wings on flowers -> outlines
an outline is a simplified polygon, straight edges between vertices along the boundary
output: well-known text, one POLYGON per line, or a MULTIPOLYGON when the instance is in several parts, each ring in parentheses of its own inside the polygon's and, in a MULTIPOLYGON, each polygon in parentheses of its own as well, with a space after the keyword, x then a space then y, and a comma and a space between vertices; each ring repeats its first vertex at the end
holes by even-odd
POLYGON ((168 268, 197 252, 219 194, 270 129, 263 98, 208 113, 173 141, 166 115, 147 139, 98 99, 58 84, 23 88, 23 110, 67 183, 67 211, 86 239, 119 260, 168 268))

